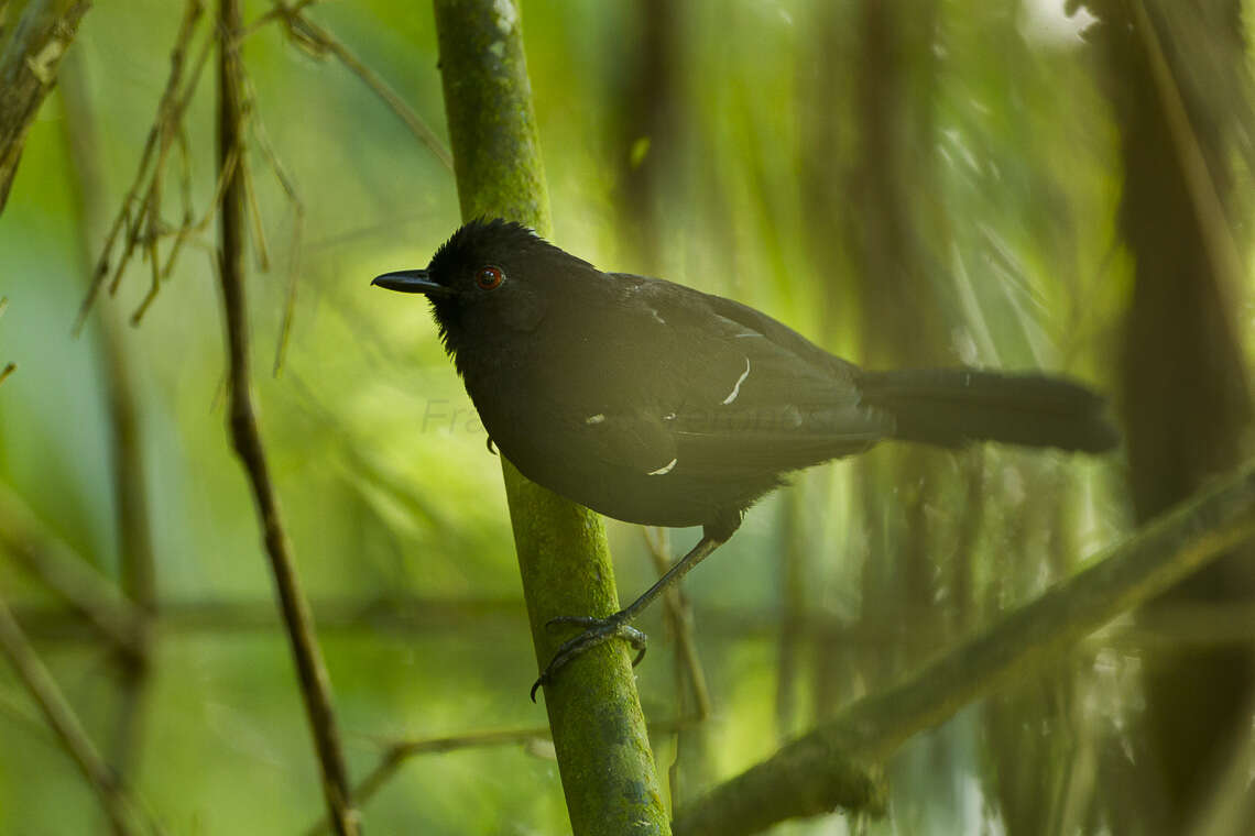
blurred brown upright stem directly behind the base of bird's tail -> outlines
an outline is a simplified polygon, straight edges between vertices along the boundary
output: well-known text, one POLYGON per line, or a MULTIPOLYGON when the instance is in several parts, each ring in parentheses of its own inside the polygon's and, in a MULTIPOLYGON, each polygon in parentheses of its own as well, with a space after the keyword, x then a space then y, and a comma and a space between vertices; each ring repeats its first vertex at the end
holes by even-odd
MULTIPOLYGON (((945 242, 925 223, 930 216, 920 201, 936 188, 929 140, 935 95, 927 93, 936 75, 930 49, 936 10, 932 0, 909 9, 862 0, 855 16, 858 138, 850 168, 832 183, 831 207, 843 219, 850 296, 858 300, 862 323, 860 360, 868 368, 954 362, 951 317, 935 290, 944 271, 929 256, 945 242)), ((861 618, 894 622, 894 610, 905 604, 915 614, 911 629, 939 645, 945 638, 945 619, 935 605, 941 538, 937 516, 926 511, 956 488, 949 465, 948 454, 910 446, 885 447, 855 462, 860 539, 866 543, 861 618), (890 600, 897 603, 891 607, 890 600)), ((867 684, 880 687, 919 658, 867 659, 867 684)))

